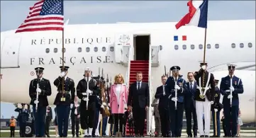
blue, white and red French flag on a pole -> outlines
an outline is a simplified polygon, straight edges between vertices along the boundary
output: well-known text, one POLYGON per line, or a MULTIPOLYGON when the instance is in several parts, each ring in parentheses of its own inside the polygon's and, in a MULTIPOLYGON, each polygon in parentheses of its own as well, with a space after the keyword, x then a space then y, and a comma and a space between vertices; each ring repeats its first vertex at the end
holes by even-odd
POLYGON ((194 25, 207 28, 208 0, 189 0, 189 13, 175 25, 179 29, 183 25, 194 25))

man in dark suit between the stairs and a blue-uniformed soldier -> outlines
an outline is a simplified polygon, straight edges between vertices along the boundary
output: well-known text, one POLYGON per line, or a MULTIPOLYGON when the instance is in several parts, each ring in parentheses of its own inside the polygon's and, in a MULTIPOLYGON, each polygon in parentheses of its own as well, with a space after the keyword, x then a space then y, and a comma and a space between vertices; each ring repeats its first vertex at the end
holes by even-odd
POLYGON ((165 93, 165 83, 167 81, 167 76, 162 76, 162 86, 157 87, 157 92, 155 93, 155 98, 159 98, 159 103, 158 103, 158 110, 160 114, 160 122, 161 122, 161 132, 162 132, 162 137, 171 137, 170 132, 170 126, 169 124, 170 119, 169 119, 169 110, 168 110, 168 97, 165 93))

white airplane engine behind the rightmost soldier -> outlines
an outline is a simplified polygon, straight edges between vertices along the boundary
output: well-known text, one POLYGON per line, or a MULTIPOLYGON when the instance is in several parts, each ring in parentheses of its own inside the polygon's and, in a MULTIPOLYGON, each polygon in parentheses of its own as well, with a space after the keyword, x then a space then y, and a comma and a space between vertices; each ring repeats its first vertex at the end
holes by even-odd
MULTIPOLYGON (((228 71, 211 72, 215 79, 218 79, 218 88, 221 85, 221 78, 228 75, 228 71)), ((255 122, 255 71, 235 70, 235 76, 238 76, 243 82, 244 92, 239 94, 239 103, 241 118, 243 122, 255 122)), ((220 102, 222 103, 221 95, 220 102)), ((223 114, 221 113, 221 117, 223 114)))

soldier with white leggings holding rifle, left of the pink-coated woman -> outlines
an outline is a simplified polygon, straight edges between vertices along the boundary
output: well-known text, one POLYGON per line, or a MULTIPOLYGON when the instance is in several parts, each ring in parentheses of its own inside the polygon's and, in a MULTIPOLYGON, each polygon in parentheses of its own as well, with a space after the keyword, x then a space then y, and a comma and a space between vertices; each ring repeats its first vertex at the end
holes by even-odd
POLYGON ((99 87, 96 80, 91 79, 91 70, 84 71, 84 79, 77 84, 77 96, 81 99, 80 123, 84 137, 91 137, 91 132, 96 121, 96 98, 99 96, 99 87), (89 134, 87 135, 87 129, 89 134))

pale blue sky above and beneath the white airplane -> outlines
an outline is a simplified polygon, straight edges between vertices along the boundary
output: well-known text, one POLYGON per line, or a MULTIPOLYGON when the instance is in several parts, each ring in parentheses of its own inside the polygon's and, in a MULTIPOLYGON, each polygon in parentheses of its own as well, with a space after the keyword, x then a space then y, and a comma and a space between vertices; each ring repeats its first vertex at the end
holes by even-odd
MULTIPOLYGON (((35 1, 1 1, 1 31, 18 28, 35 1)), ((69 24, 179 21, 187 1, 65 1, 69 24)), ((209 1, 208 20, 255 19, 255 1, 209 1)), ((1 103, 4 117, 16 115, 14 106, 1 103)))

